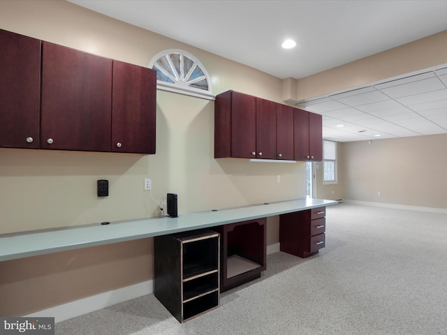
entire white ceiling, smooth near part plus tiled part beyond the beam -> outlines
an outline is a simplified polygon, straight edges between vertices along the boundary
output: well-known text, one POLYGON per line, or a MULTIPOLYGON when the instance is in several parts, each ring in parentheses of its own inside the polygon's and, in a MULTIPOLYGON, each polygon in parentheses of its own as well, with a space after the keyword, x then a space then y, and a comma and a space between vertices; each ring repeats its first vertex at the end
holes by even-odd
MULTIPOLYGON (((446 0, 69 1, 279 78, 306 77, 447 29, 446 0), (286 38, 297 47, 282 49, 286 38)), ((447 133, 446 68, 300 105, 323 114, 328 140, 447 133)))

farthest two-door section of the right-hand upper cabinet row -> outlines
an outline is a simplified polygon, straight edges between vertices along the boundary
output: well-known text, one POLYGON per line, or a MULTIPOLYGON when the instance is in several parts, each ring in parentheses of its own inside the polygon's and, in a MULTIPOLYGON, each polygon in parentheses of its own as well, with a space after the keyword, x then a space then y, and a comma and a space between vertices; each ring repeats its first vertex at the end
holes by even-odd
POLYGON ((295 109, 293 127, 295 159, 298 161, 322 161, 323 129, 321 115, 295 109))

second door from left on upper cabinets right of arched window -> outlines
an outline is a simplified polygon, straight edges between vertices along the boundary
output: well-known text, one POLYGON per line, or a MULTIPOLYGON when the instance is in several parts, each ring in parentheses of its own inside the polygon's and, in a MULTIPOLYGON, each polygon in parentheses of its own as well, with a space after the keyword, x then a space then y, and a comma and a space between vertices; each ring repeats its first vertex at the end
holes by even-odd
POLYGON ((277 104, 256 98, 256 158, 277 156, 277 104))

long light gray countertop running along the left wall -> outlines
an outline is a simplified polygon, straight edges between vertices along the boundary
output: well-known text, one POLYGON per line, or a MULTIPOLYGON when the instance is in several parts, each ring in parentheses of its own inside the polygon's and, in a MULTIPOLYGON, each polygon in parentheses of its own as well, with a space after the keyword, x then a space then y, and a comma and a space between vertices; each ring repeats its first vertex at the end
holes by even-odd
POLYGON ((333 200, 297 199, 219 209, 217 211, 180 213, 177 218, 140 218, 112 221, 108 225, 96 223, 69 228, 0 234, 0 261, 143 239, 186 230, 210 228, 337 203, 333 200))

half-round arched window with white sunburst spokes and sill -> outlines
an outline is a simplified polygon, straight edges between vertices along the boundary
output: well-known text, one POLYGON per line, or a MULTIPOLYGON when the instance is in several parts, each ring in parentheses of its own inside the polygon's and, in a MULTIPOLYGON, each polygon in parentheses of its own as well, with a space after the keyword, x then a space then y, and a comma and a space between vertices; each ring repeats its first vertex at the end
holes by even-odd
POLYGON ((183 50, 165 50, 156 54, 149 63, 156 70, 158 89, 214 99, 210 75, 192 54, 183 50))

